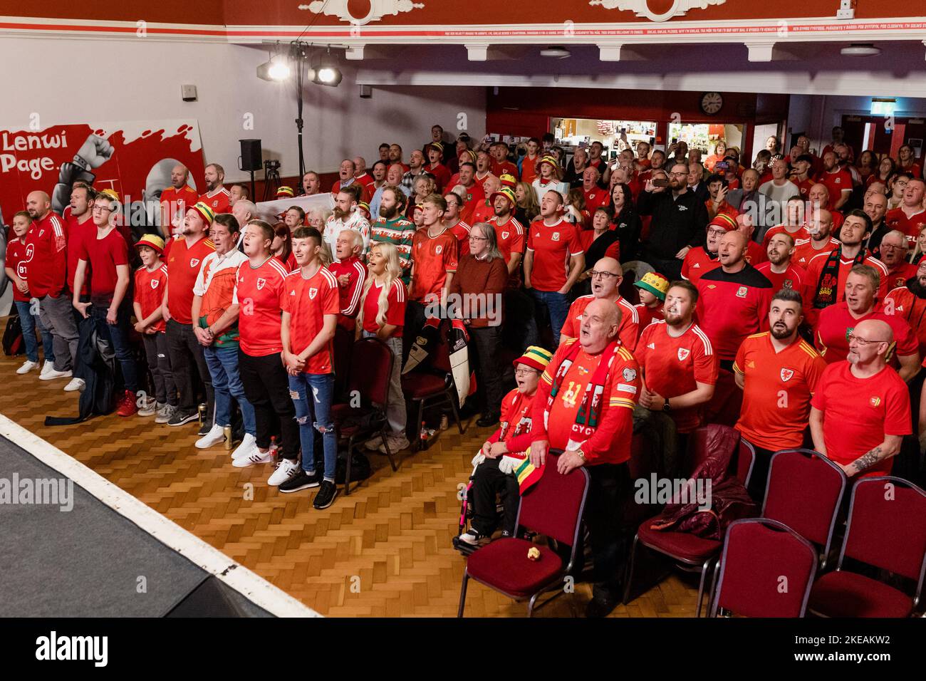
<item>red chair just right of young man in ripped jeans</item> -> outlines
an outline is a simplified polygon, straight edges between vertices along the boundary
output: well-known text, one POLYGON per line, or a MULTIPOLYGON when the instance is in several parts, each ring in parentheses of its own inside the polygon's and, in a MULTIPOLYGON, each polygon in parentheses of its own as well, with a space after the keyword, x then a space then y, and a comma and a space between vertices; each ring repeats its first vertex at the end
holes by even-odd
POLYGON ((386 406, 389 402, 389 378, 393 373, 392 349, 379 338, 362 338, 354 344, 350 353, 351 365, 347 375, 348 396, 360 397, 360 404, 354 399, 332 405, 332 421, 338 439, 347 441, 347 469, 344 477, 344 495, 350 494, 350 469, 354 448, 372 435, 382 436, 386 443, 386 456, 393 471, 393 453, 389 451, 386 438, 386 406), (356 391, 356 392, 355 392, 356 391))

